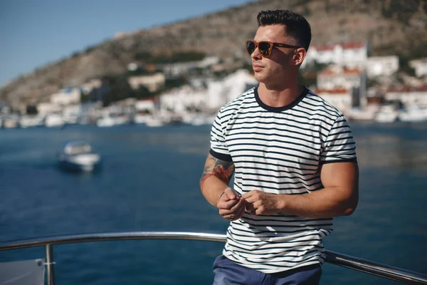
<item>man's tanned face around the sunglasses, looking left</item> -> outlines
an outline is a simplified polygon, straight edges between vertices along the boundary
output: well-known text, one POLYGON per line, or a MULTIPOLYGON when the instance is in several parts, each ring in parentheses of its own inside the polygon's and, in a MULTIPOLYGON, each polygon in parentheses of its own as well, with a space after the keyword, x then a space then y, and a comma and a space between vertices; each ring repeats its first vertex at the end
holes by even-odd
MULTIPOLYGON (((254 41, 271 41, 273 43, 288 43, 295 45, 295 40, 286 35, 285 26, 260 26, 253 38, 254 41)), ((294 48, 273 48, 268 58, 261 56, 255 49, 251 54, 255 79, 260 83, 275 84, 283 81, 290 69, 290 61, 295 52, 294 48)))

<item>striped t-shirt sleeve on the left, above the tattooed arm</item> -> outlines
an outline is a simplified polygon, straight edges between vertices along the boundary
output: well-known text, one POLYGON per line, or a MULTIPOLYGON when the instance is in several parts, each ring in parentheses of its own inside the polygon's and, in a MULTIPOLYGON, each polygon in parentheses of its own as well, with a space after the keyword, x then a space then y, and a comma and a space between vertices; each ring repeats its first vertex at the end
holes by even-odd
POLYGON ((224 161, 233 161, 226 145, 225 127, 221 120, 221 110, 216 115, 211 129, 211 150, 209 153, 224 161))

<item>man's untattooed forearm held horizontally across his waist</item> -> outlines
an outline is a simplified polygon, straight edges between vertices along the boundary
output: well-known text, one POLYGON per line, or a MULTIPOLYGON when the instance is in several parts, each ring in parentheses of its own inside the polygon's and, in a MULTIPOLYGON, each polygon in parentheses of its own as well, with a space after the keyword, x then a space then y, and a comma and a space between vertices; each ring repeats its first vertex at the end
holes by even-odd
POLYGON ((282 214, 330 218, 352 214, 357 207, 357 199, 357 192, 327 187, 305 195, 278 195, 278 204, 282 214))

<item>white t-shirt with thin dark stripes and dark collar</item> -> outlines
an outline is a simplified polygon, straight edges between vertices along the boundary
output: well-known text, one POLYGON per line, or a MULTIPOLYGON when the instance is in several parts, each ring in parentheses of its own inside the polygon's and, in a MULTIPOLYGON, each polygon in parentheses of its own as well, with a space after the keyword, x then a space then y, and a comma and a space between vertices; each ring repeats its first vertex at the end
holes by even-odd
MULTIPOLYGON (((211 155, 235 165, 236 192, 302 195, 323 188, 320 166, 356 162, 339 110, 305 88, 290 105, 270 107, 252 88, 224 105, 211 130, 211 155)), ((227 230, 223 255, 270 274, 322 263, 332 218, 243 214, 227 230)))

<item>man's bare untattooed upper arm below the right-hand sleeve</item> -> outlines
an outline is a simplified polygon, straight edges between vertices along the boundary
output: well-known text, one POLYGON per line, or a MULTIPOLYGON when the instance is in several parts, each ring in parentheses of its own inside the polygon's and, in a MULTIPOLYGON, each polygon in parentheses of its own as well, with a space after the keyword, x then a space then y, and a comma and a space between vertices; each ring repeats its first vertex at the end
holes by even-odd
POLYGON ((357 162, 332 162, 322 165, 320 179, 325 188, 336 188, 337 198, 351 214, 359 200, 359 167, 357 162))

